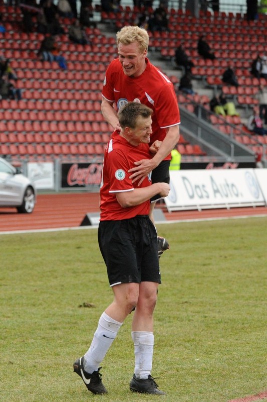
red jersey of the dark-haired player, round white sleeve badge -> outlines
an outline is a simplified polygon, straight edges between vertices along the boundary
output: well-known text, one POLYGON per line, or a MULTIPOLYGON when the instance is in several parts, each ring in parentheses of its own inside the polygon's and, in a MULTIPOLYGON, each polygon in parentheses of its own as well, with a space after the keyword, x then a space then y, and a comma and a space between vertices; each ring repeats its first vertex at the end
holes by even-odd
POLYGON ((112 138, 105 149, 101 185, 100 185, 100 221, 118 221, 134 218, 136 215, 148 215, 150 200, 135 207, 122 208, 117 201, 116 193, 133 191, 134 188, 147 187, 151 184, 150 175, 140 186, 132 183, 128 170, 134 162, 149 159, 148 144, 131 145, 125 138, 117 135, 112 138))

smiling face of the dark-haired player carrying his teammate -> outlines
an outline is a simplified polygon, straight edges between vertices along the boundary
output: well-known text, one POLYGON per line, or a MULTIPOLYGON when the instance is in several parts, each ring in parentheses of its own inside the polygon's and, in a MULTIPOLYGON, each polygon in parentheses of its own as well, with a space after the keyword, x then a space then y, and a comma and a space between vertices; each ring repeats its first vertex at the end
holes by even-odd
POLYGON ((152 119, 149 117, 139 116, 136 119, 135 128, 125 127, 123 137, 125 137, 131 145, 137 146, 141 143, 149 144, 150 135, 152 134, 152 119))

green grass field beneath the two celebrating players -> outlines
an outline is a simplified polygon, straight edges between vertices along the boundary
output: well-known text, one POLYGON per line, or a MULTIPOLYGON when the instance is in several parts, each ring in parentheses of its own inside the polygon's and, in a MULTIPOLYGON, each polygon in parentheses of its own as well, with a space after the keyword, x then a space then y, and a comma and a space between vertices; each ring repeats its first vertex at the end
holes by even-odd
POLYGON ((152 371, 165 396, 129 390, 131 316, 102 364, 108 395, 73 373, 112 300, 96 229, 0 236, 0 400, 227 402, 266 391, 266 227, 267 218, 158 225, 171 244, 152 371))

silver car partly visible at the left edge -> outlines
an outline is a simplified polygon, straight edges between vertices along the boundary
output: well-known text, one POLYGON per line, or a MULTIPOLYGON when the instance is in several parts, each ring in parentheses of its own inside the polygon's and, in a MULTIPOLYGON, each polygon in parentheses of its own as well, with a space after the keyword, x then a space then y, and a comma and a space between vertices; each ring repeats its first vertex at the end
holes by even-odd
POLYGON ((21 171, 0 158, 0 207, 16 207, 31 214, 36 204, 36 189, 21 171))

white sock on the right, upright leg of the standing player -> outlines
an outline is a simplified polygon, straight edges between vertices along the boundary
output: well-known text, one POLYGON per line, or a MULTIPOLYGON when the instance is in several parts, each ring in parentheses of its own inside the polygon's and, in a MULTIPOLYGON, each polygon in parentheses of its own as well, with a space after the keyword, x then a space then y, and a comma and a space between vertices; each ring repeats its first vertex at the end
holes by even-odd
POLYGON ((154 334, 153 332, 133 331, 135 366, 137 378, 148 378, 152 370, 154 334))

